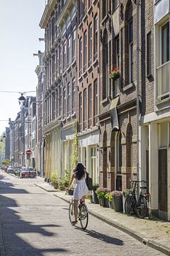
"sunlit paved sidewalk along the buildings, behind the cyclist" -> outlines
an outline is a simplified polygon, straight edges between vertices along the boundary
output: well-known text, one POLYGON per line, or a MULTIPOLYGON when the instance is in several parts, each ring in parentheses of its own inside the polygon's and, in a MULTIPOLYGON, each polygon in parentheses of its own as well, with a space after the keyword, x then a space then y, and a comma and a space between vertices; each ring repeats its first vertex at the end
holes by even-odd
MULTIPOLYGON (((55 190, 42 180, 37 179, 36 186, 45 189, 45 191, 53 191, 55 196, 68 202, 71 196, 65 194, 64 191, 55 190)), ((103 208, 94 203, 86 204, 89 209, 89 213, 96 218, 103 220, 109 225, 113 225, 115 228, 122 230, 133 238, 140 240, 145 245, 153 247, 166 255, 170 255, 170 223, 163 220, 149 220, 147 218, 140 219, 134 216, 127 216, 123 213, 116 213, 110 208, 103 208)))

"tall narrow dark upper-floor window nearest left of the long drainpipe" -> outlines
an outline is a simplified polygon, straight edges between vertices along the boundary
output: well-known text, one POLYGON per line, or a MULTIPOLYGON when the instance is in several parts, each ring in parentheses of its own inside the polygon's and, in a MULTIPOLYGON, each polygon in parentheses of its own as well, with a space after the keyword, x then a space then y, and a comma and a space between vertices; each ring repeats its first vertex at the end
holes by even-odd
POLYGON ((129 83, 133 81, 133 23, 128 23, 128 43, 129 43, 129 83))

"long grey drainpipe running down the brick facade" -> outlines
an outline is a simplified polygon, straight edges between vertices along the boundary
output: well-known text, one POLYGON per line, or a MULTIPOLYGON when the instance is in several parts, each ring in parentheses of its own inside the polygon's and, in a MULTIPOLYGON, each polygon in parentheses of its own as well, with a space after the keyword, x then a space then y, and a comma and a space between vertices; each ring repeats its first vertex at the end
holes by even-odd
MULTIPOLYGON (((140 128, 140 99, 139 99, 139 0, 136 0, 136 43, 137 43, 137 73, 136 73, 136 99, 137 99, 137 117, 136 117, 136 128, 137 128, 137 181, 140 180, 140 136, 139 136, 139 128, 140 128)), ((140 193, 140 186, 138 186, 138 195, 140 193)))

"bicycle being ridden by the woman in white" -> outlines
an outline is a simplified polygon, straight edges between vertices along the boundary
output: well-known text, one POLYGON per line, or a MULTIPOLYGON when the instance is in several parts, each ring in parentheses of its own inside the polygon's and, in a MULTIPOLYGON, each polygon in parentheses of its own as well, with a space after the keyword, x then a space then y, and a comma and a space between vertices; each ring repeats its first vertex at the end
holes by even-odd
MULTIPOLYGON (((81 199, 79 199, 78 209, 79 209, 79 221, 81 224, 81 228, 85 230, 89 221, 89 213, 88 213, 88 208, 86 206, 86 203, 81 199)), ((72 225, 76 225, 75 223, 73 223, 74 221, 74 199, 73 198, 69 201, 69 221, 72 225)))

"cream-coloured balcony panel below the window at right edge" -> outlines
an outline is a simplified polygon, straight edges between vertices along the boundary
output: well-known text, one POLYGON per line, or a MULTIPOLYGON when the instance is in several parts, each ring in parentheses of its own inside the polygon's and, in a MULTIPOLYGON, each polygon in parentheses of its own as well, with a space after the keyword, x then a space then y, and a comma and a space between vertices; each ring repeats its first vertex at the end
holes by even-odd
POLYGON ((169 69, 170 69, 170 61, 160 65, 156 70, 158 100, 164 100, 166 97, 169 97, 169 92, 170 92, 169 69))

